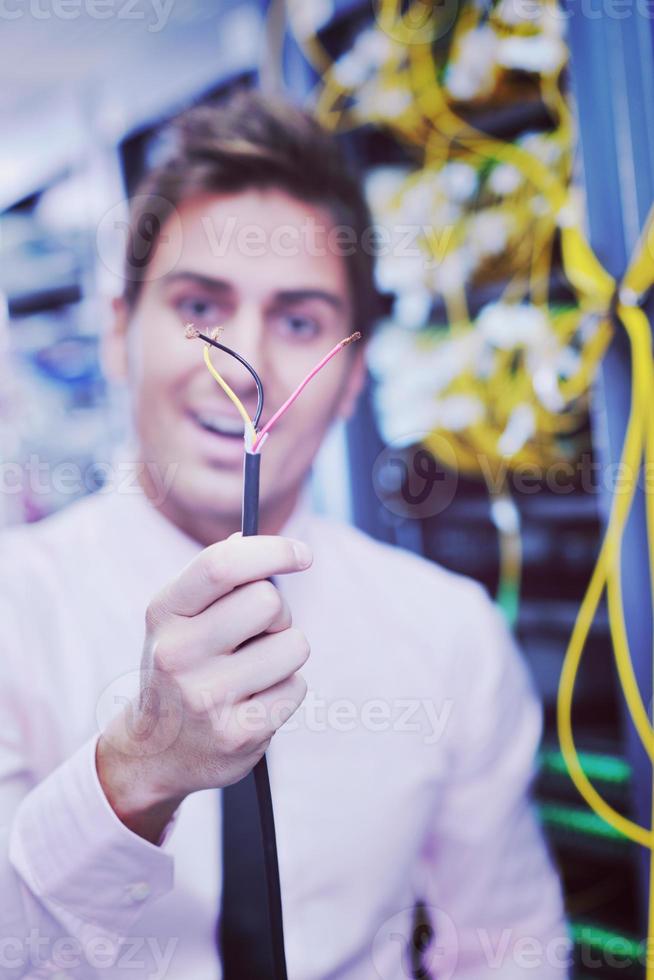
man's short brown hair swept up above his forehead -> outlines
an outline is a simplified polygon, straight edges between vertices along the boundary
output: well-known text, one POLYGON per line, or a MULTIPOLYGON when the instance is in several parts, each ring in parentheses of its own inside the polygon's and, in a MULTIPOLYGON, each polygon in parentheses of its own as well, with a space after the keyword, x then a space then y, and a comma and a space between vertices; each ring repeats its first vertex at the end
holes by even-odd
POLYGON ((335 137, 308 113, 255 91, 220 105, 197 106, 169 128, 172 151, 136 189, 125 255, 124 299, 136 304, 157 239, 185 200, 207 193, 280 188, 326 207, 348 229, 347 267, 354 326, 365 332, 377 313, 371 219, 360 182, 335 137))

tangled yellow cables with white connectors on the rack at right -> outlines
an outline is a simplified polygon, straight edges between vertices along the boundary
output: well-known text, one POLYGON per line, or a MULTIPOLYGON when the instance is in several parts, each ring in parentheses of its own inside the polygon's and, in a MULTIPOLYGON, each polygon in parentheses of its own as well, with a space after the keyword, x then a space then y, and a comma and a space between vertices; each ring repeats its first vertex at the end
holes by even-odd
MULTIPOLYGON (((380 261, 381 285, 397 297, 392 321, 371 347, 387 440, 398 445, 422 431, 435 455, 445 441, 460 470, 486 477, 523 463, 575 458, 590 388, 613 333, 624 330, 628 339, 631 407, 622 485, 614 493, 564 658, 557 718, 562 753, 583 799, 607 824, 652 853, 649 947, 654 811, 650 826, 640 826, 595 789, 575 746, 572 705, 588 634, 606 591, 620 685, 654 767, 654 728, 630 654, 620 562, 639 476, 644 465, 648 479, 654 464, 654 362, 642 309, 654 285, 654 209, 617 282, 580 227, 579 195, 572 184, 574 134, 561 84, 567 48, 553 0, 532 5, 529 19, 514 0, 471 4, 454 25, 455 11, 448 4, 413 0, 402 12, 400 0, 380 0, 375 25, 335 61, 301 8, 301 0, 287 0, 291 30, 321 75, 313 100, 318 117, 341 131, 381 127, 418 162, 412 169, 373 174, 370 184, 373 211, 389 229, 403 223, 420 231, 414 261, 398 263, 392 254, 380 261), (464 118, 466 108, 469 116, 470 109, 510 102, 516 78, 522 94, 526 85, 532 100, 547 110, 550 132, 510 142, 464 118), (564 305, 550 296, 557 252, 574 300, 564 305), (499 299, 473 318, 466 286, 489 283, 504 284, 499 299), (435 296, 444 304, 446 324, 430 323, 435 296)), ((651 570, 654 494, 647 483, 645 498, 651 570)), ((654 980, 650 955, 647 978, 654 980)))

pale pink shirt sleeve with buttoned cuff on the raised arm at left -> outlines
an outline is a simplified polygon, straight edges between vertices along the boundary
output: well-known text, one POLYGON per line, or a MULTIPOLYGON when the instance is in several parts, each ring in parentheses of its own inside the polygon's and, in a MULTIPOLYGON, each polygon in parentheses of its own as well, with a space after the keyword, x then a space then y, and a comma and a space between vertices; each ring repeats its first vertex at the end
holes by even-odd
POLYGON ((143 911, 171 890, 171 824, 157 847, 118 819, 97 775, 98 734, 39 771, 31 636, 0 576, 0 980, 89 980, 106 974, 143 911))

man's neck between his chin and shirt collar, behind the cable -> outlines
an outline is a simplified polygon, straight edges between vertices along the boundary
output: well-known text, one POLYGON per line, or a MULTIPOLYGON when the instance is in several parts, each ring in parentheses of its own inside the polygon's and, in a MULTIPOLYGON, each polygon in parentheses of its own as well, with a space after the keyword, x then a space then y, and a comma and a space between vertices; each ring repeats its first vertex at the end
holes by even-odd
MULTIPOLYGON (((172 495, 166 495, 162 501, 161 494, 149 485, 147 467, 139 475, 139 482, 146 497, 159 513, 205 548, 241 530, 240 510, 222 514, 204 509, 194 510, 185 506, 183 502, 173 499, 172 495)), ((284 497, 272 501, 261 500, 259 534, 279 534, 295 510, 299 496, 298 486, 284 497)))

